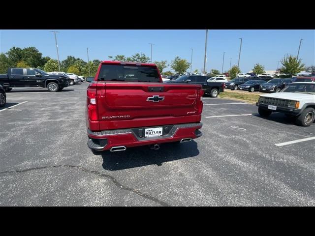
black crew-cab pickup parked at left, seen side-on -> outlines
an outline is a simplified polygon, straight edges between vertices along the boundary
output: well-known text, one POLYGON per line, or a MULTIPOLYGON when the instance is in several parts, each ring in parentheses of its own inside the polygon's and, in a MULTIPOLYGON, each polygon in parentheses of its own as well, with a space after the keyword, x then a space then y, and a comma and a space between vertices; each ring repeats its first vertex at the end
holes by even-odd
POLYGON ((8 68, 7 74, 0 75, 0 85, 6 92, 12 88, 47 88, 51 92, 61 91, 69 85, 70 79, 61 75, 50 75, 33 68, 8 68))

